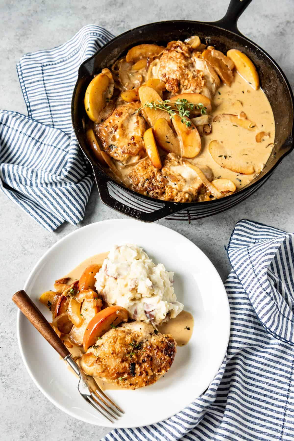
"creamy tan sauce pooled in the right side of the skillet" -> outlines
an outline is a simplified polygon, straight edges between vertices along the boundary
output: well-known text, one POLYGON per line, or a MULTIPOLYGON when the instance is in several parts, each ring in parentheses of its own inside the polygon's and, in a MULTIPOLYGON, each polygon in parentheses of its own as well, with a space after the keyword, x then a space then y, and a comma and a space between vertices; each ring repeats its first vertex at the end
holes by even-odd
POLYGON ((201 153, 190 161, 199 167, 208 165, 216 178, 231 179, 239 190, 261 172, 272 152, 275 140, 272 108, 261 88, 253 90, 238 73, 235 74, 231 87, 224 84, 219 87, 212 103, 213 117, 222 113, 238 115, 240 112, 245 112, 247 119, 253 121, 256 127, 254 130, 247 130, 233 125, 228 120, 212 122, 211 134, 201 138, 201 153), (256 135, 262 131, 267 136, 264 136, 261 142, 256 142, 256 135), (231 156, 236 161, 253 164, 255 172, 251 175, 239 175, 216 164, 208 151, 209 142, 214 139, 226 146, 227 151, 231 152, 231 156))

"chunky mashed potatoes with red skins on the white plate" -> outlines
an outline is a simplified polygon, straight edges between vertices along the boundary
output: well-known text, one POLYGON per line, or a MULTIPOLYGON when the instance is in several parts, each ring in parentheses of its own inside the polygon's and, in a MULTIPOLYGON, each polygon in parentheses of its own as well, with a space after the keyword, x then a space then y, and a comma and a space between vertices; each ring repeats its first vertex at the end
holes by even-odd
POLYGON ((173 276, 137 245, 114 245, 96 274, 95 288, 108 304, 126 308, 130 318, 160 325, 184 307, 177 302, 173 276))

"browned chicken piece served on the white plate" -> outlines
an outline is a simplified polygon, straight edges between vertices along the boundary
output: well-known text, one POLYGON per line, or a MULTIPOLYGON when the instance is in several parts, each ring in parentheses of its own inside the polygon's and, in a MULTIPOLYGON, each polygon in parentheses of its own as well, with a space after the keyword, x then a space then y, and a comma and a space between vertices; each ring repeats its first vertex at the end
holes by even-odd
POLYGON ((126 389, 151 385, 172 365, 176 342, 141 321, 110 329, 82 355, 84 372, 126 389))

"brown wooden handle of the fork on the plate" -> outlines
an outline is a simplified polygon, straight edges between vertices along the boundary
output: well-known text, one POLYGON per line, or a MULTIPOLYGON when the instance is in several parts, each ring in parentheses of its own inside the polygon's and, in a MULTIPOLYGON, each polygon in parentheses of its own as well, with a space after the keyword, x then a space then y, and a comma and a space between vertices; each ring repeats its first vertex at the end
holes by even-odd
POLYGON ((25 291, 18 291, 12 296, 15 305, 19 307, 22 314, 26 316, 39 333, 51 344, 59 355, 64 358, 71 355, 70 351, 60 340, 52 326, 45 319, 44 315, 38 310, 37 306, 32 302, 25 291))

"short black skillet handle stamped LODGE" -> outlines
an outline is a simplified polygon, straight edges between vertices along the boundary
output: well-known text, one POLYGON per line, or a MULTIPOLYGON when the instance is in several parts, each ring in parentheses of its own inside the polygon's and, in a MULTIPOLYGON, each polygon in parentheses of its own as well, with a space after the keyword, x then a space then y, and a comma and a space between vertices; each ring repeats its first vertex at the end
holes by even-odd
MULTIPOLYGON (((128 206, 126 203, 116 200, 109 194, 109 190, 107 186, 108 179, 105 178, 105 175, 100 171, 100 168, 93 165, 93 172, 101 201, 105 205, 118 211, 119 213, 126 214, 129 217, 133 217, 134 219, 139 219, 140 221, 143 222, 155 222, 155 221, 160 221, 160 219, 164 219, 167 216, 171 216, 171 214, 173 213, 177 213, 178 211, 181 211, 180 208, 177 209, 177 204, 175 204, 174 202, 168 203, 164 201, 156 201, 163 206, 151 213, 146 213, 145 211, 141 211, 140 209, 128 206)), ((123 196, 127 198, 127 192, 124 192, 123 196)), ((137 202, 136 205, 140 206, 140 203, 137 202)), ((151 204, 149 204, 149 206, 151 208, 152 202, 151 204)), ((187 208, 189 208, 189 204, 187 204, 187 208)))

